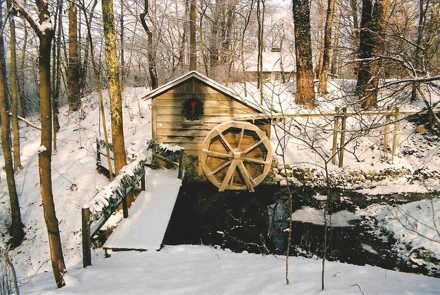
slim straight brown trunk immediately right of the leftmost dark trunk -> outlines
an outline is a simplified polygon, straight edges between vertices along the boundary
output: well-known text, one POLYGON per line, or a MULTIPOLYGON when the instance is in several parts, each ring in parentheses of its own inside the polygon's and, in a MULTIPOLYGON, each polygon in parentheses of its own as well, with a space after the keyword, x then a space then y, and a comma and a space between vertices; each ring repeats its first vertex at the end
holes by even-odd
MULTIPOLYGON (((8 9, 11 7, 10 1, 8 9)), ((14 171, 21 169, 20 153, 20 130, 19 130, 19 89, 17 78, 17 51, 15 49, 15 20, 11 15, 9 18, 10 28, 10 88, 11 88, 11 123, 12 123, 12 147, 14 150, 14 171)))

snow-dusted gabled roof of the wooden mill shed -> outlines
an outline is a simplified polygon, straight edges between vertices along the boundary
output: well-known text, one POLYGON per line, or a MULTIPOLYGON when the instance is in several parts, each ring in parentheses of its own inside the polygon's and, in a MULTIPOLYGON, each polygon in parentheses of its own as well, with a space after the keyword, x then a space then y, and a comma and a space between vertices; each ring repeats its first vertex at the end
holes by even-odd
POLYGON ((254 104, 253 102, 250 102, 249 100, 243 99, 236 91, 234 91, 232 88, 229 88, 228 86, 224 86, 223 84, 220 84, 219 82, 216 82, 208 77, 206 75, 203 75, 202 73, 199 73, 198 71, 190 71, 186 73, 185 75, 180 76, 179 78, 176 78, 173 81, 170 81, 160 87, 157 87, 153 89, 150 93, 145 95, 143 99, 153 99, 154 97, 157 97, 158 95, 161 95, 162 93, 170 90, 170 88, 173 88, 177 86, 178 84, 185 82, 186 80, 189 80, 190 78, 195 78, 208 86, 214 88, 215 90, 219 91, 220 93, 223 93, 225 95, 228 95, 232 99, 236 100, 237 102, 240 102, 241 104, 248 106, 249 108, 252 108, 252 110, 255 110, 257 113, 261 113, 263 109, 259 104, 254 104))

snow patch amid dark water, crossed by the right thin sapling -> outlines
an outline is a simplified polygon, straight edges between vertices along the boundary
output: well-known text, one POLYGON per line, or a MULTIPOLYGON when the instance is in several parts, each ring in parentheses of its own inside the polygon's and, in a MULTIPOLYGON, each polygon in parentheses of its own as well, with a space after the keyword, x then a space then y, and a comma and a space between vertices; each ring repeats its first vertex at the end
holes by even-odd
MULTIPOLYGON (((329 226, 353 226, 350 224, 350 220, 359 220, 360 216, 349 212, 347 210, 342 210, 333 214, 327 215, 327 220, 329 226)), ((322 225, 324 224, 324 210, 315 209, 311 207, 303 207, 292 213, 292 220, 298 222, 309 222, 312 224, 322 225)))

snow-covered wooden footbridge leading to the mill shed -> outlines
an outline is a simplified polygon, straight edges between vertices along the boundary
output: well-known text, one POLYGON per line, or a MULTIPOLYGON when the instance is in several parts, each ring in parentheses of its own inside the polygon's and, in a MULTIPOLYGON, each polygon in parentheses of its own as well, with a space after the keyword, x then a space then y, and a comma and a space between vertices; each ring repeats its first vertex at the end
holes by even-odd
POLYGON ((173 213, 181 180, 177 170, 146 169, 146 191, 142 191, 104 249, 159 250, 173 213))

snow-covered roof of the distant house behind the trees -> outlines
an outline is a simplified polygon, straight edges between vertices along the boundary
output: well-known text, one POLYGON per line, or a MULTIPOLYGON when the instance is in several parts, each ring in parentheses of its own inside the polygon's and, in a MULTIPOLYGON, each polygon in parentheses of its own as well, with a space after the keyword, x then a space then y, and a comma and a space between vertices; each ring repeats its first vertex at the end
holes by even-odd
MULTIPOLYGON (((296 71, 295 57, 290 52, 263 52, 263 72, 281 72, 281 57, 283 57, 283 71, 296 71)), ((256 72, 258 60, 258 53, 245 54, 245 70, 256 72)), ((241 68, 241 65, 239 66, 241 68)))

